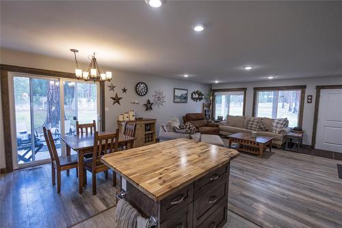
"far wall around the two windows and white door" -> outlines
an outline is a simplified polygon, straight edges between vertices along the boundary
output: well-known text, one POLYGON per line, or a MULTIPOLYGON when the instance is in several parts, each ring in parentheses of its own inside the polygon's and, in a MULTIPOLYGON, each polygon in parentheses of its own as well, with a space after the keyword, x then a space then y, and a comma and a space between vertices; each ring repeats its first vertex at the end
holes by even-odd
MULTIPOLYGON (((312 77, 289 80, 267 80, 244 83, 218 84, 213 88, 247 88, 246 96, 246 116, 252 116, 253 108, 253 88, 265 86, 301 86, 306 85, 305 96, 313 95, 313 103, 304 103, 304 116, 302 128, 305 131, 303 143, 311 144, 313 134, 313 116, 315 112, 316 86, 321 85, 341 85, 342 76, 337 77, 312 77)), ((306 97, 305 97, 306 98, 306 97)))

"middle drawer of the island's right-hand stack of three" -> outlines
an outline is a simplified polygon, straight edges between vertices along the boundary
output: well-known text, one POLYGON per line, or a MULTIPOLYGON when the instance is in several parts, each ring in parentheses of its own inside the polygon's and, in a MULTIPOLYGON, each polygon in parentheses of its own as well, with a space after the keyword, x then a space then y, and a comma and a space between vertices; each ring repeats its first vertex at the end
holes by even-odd
POLYGON ((228 199, 228 181, 220 181, 215 188, 205 192, 202 197, 194 201, 194 219, 202 220, 210 214, 211 208, 217 207, 222 201, 228 199))

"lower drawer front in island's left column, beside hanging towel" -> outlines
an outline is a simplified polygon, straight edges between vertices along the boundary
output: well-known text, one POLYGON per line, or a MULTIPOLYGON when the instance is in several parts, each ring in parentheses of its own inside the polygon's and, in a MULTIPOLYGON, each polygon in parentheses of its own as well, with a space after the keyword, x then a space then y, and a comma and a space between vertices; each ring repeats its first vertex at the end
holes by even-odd
POLYGON ((193 227, 193 207, 192 203, 189 203, 183 209, 174 212, 167 220, 160 224, 159 228, 192 228, 193 227))

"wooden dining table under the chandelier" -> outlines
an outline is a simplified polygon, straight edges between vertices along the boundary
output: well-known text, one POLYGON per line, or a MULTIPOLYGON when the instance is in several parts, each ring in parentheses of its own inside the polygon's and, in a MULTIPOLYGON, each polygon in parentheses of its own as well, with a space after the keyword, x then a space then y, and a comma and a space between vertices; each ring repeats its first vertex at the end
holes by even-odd
MULTIPOLYGON (((98 135, 113 134, 114 131, 99 131, 98 135)), ((66 144, 66 155, 70 155, 71 149, 78 154, 78 170, 79 170, 79 194, 83 192, 83 157, 85 154, 92 153, 94 147, 94 135, 84 134, 79 136, 61 136, 61 140, 66 144)), ((124 134, 119 135, 119 144, 124 144, 127 148, 131 148, 135 138, 124 134)))

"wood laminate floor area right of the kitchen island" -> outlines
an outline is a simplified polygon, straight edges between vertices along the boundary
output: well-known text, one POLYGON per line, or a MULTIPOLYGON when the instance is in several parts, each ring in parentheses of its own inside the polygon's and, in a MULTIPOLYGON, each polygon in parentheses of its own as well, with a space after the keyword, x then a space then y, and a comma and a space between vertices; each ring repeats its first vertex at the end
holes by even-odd
POLYGON ((228 209, 265 228, 341 228, 342 162, 273 151, 233 160, 228 209))

